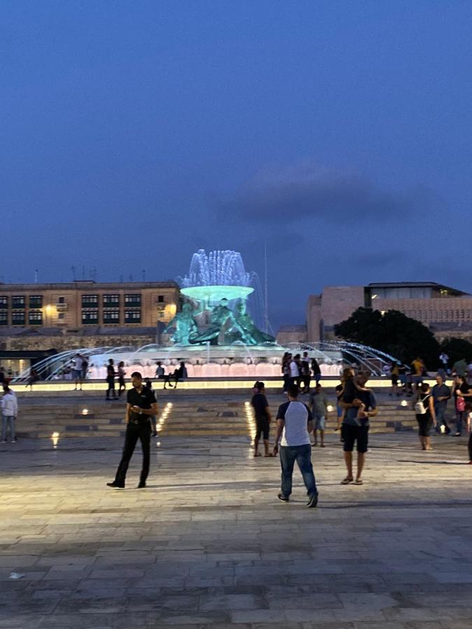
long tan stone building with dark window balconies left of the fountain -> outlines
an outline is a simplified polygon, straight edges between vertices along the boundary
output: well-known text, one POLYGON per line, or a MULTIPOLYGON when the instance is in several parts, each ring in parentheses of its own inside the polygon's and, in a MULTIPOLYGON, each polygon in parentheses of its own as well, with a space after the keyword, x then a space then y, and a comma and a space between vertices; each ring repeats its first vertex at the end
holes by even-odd
POLYGON ((0 284, 0 364, 21 372, 42 352, 156 342, 179 298, 176 282, 0 284))

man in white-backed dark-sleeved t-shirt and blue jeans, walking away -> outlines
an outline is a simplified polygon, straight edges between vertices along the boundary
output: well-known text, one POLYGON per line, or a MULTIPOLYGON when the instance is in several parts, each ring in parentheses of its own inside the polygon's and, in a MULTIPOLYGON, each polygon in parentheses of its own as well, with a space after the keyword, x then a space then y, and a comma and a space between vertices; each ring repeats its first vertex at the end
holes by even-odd
POLYGON ((280 405, 277 413, 277 433, 274 454, 278 452, 280 441, 280 467, 282 468, 282 482, 278 499, 288 503, 292 493, 292 475, 296 461, 303 477, 308 493, 307 507, 316 507, 318 490, 316 488, 313 465, 311 464, 310 432, 313 431, 313 417, 310 409, 297 399, 298 384, 290 384, 288 388, 289 401, 280 405), (280 440, 280 438, 282 438, 280 440))

